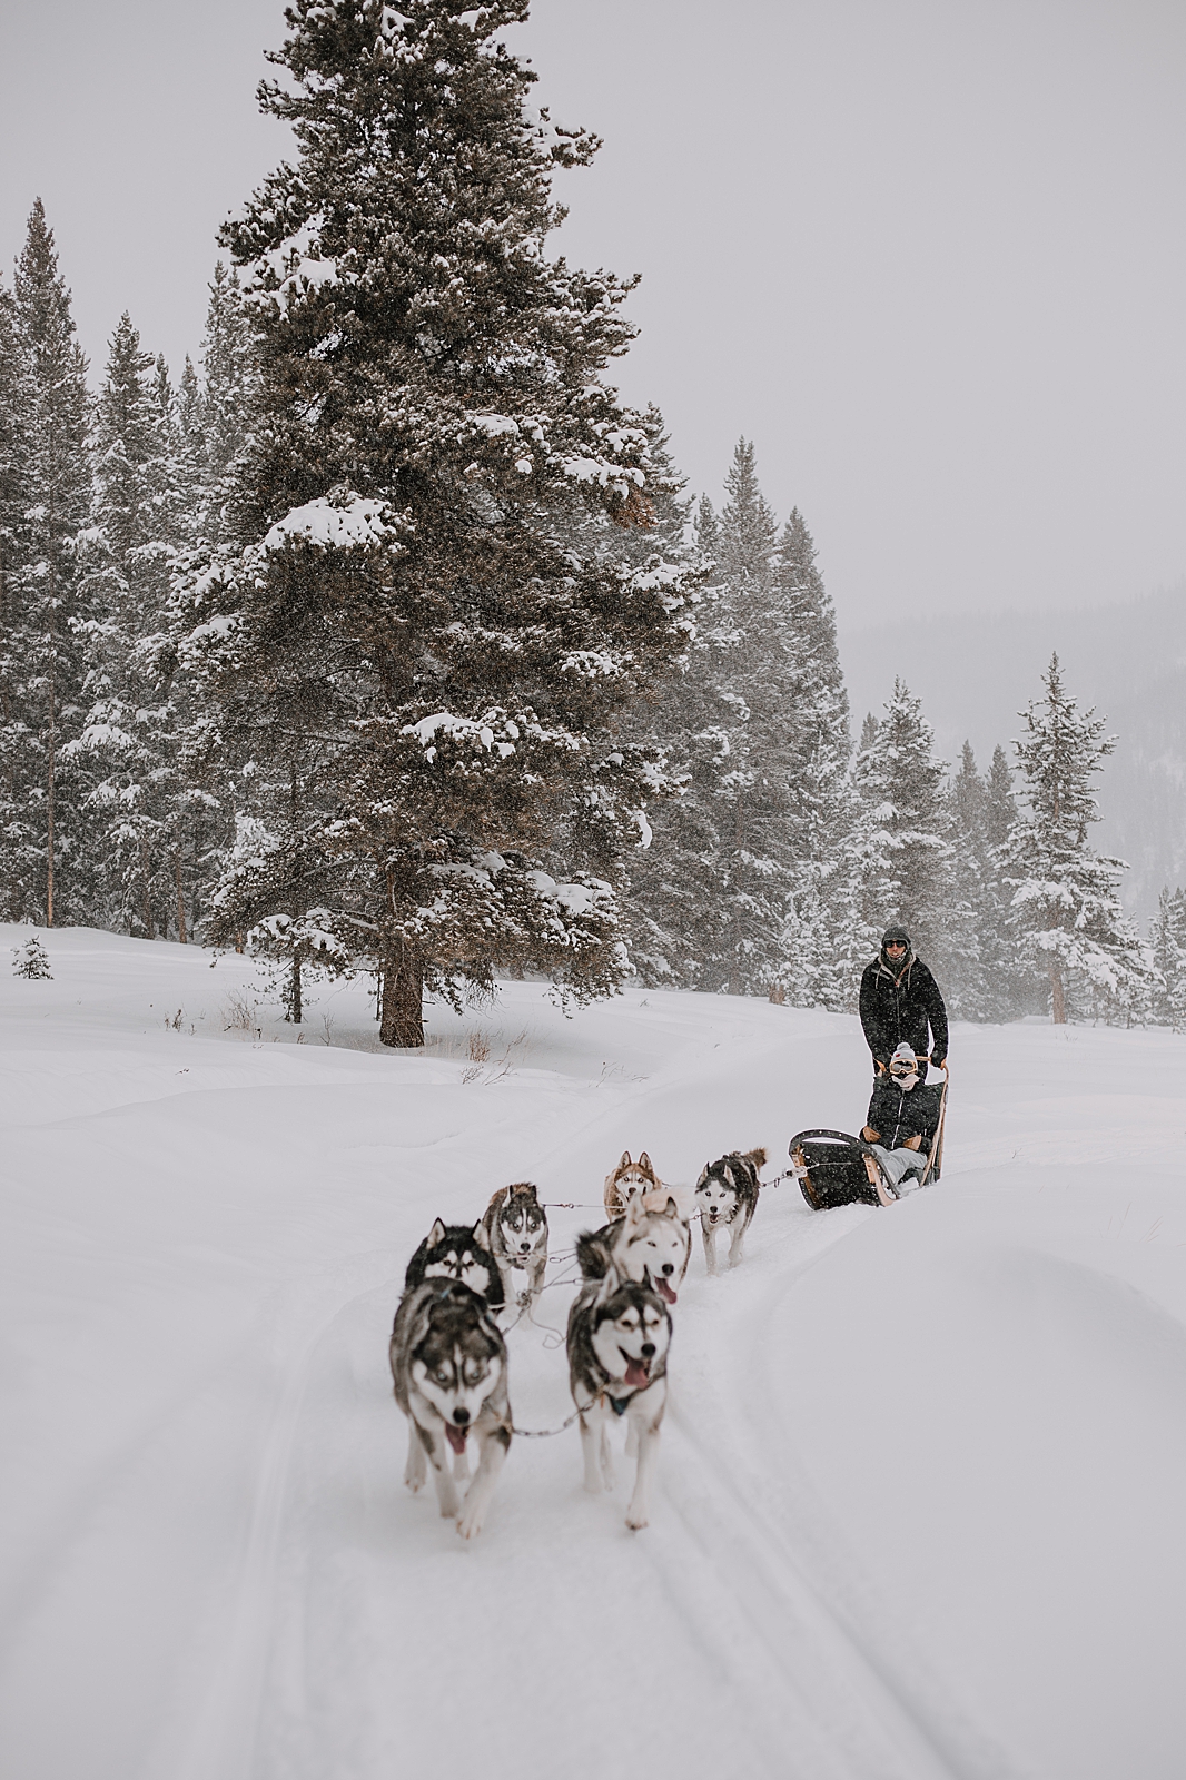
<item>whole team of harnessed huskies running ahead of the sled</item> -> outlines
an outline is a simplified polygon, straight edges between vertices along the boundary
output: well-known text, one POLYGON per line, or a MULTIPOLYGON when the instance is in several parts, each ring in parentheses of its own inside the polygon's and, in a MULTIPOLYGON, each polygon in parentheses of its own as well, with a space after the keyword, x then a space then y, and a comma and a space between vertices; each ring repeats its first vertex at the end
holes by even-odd
MULTIPOLYGON (((696 1182, 709 1273, 728 1230, 728 1266, 743 1258, 759 1200, 764 1150, 732 1152, 696 1182)), ((691 1214, 655 1175, 646 1152, 623 1155, 605 1177, 600 1230, 577 1237, 581 1269, 568 1312, 568 1381, 581 1422, 584 1486, 613 1488, 609 1428, 627 1420, 638 1468, 627 1525, 646 1525, 659 1426, 668 1401, 671 1305, 691 1258, 691 1214)), ((392 1330, 395 1403, 408 1417, 404 1483, 417 1492, 433 1472, 440 1511, 461 1538, 481 1533, 511 1445, 508 1351, 499 1312, 529 1310, 543 1287, 548 1219, 531 1182, 499 1187, 475 1225, 440 1218, 408 1262, 392 1330), (516 1292, 515 1273, 525 1274, 516 1292), (470 1477, 468 1440, 477 1445, 470 1477), (458 1485, 468 1483, 465 1499, 458 1485)))

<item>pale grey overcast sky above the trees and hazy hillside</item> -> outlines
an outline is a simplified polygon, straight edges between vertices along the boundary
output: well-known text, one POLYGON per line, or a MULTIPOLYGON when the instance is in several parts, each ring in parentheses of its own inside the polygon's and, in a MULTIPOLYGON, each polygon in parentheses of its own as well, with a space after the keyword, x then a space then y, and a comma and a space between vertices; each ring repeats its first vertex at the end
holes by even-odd
MULTIPOLYGON (((278 0, 0 0, 0 251, 41 192, 87 351, 196 351, 283 153, 278 0)), ((693 488, 739 433, 844 625, 1186 575, 1184 0, 536 0, 565 251, 639 271, 621 367, 693 488)))

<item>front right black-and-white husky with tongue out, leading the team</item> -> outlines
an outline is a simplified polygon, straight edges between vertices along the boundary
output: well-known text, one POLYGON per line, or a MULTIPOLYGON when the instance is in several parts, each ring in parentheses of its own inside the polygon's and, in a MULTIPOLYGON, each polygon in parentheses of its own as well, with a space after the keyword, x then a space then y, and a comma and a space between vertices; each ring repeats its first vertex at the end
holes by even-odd
POLYGON ((584 1486, 613 1490, 609 1428, 625 1417, 627 1451, 638 1451, 638 1470, 627 1525, 646 1525, 650 1479, 659 1458, 659 1424, 668 1404, 668 1347, 671 1312, 650 1285, 625 1280, 611 1267, 586 1280, 568 1312, 568 1381, 581 1412, 584 1486))

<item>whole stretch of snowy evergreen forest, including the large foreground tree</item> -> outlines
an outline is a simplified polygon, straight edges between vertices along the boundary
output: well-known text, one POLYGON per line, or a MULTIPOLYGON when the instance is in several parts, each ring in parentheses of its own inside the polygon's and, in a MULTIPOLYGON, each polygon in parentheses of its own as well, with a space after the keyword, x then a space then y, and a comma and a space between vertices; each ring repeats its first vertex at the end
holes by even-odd
MULTIPOLYGON (((0 287, 2 917, 256 954, 301 1022, 536 975, 851 1011, 890 922, 958 1018, 1181 1016, 1092 849, 1111 751, 1054 657, 988 762, 917 687, 851 712, 808 516, 737 441, 693 498, 630 409, 629 278, 556 253, 598 142, 529 105, 524 7, 296 0, 294 135, 205 335, 102 368, 32 205, 0 287), (862 721, 864 719, 864 721, 862 721)), ((132 295, 132 294, 130 294, 132 295)))

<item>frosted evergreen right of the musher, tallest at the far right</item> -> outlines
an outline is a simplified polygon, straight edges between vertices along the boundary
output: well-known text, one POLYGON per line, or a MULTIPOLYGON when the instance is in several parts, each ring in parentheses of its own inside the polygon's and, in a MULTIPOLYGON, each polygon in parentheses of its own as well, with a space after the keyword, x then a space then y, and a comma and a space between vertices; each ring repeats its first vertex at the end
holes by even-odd
POLYGON ((1099 821, 1092 780, 1115 739, 1067 692, 1058 655, 1042 684, 1045 698, 1022 712, 1026 733, 1013 742, 1024 808, 999 854, 1020 956, 1047 979, 1056 1025, 1070 1015, 1131 1020, 1152 991, 1152 956, 1120 904, 1124 860, 1088 846, 1099 821))

